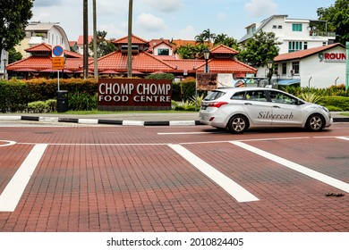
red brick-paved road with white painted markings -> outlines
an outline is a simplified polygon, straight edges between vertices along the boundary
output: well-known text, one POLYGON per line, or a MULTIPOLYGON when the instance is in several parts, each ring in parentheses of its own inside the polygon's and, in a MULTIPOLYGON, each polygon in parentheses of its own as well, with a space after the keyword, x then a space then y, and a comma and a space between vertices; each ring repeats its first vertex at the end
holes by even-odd
POLYGON ((349 123, 2 121, 0 231, 348 232, 349 123))

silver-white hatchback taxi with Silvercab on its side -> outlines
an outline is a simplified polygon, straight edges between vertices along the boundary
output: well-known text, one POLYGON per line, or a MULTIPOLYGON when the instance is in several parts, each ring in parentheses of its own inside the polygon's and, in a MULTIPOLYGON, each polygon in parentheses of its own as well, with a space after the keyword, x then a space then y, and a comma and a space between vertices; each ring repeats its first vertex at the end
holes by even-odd
POLYGON ((218 88, 201 102, 200 122, 241 134, 246 129, 300 127, 319 131, 333 119, 327 108, 267 87, 218 88))

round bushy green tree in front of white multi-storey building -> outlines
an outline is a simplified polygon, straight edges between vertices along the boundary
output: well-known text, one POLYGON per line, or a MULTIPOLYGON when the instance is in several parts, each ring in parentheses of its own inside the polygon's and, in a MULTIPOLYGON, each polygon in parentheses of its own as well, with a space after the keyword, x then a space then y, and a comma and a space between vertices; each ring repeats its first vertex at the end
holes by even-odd
POLYGON ((246 42, 243 50, 237 55, 243 63, 253 67, 267 65, 269 60, 274 60, 279 52, 280 42, 277 42, 274 32, 260 31, 253 34, 253 37, 246 42))

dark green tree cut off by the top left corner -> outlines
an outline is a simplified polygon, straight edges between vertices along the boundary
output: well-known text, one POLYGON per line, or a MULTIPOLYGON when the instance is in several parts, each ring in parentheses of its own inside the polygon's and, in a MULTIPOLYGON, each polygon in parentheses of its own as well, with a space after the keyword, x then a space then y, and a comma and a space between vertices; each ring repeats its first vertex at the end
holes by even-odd
POLYGON ((34 0, 0 1, 0 52, 3 49, 10 50, 25 37, 25 28, 33 15, 33 2, 34 0))

